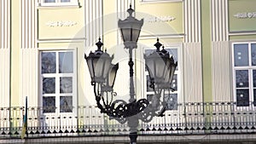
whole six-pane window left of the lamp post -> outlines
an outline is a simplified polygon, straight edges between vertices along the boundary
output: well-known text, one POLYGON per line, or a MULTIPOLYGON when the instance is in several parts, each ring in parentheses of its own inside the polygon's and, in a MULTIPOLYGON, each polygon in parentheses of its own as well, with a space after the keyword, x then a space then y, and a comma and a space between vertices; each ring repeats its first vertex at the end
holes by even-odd
POLYGON ((41 51, 41 101, 44 113, 73 112, 76 104, 75 53, 41 51))

